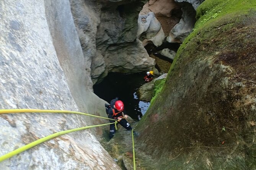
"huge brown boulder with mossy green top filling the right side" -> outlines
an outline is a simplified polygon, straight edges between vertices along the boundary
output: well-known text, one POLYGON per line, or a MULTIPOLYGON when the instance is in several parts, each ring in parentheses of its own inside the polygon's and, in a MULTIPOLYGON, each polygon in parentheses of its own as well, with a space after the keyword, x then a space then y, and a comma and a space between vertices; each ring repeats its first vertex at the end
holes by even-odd
POLYGON ((141 166, 256 169, 255 21, 255 0, 205 0, 197 8, 194 31, 136 128, 141 166))

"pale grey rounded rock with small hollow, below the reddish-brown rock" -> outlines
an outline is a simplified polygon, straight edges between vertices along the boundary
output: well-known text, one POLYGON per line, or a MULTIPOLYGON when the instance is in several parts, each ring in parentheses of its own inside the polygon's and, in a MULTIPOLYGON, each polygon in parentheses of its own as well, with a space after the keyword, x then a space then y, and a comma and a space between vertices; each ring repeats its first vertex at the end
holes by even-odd
POLYGON ((153 12, 145 15, 139 14, 138 25, 137 38, 142 41, 143 46, 148 42, 152 42, 157 47, 163 43, 165 33, 153 12))

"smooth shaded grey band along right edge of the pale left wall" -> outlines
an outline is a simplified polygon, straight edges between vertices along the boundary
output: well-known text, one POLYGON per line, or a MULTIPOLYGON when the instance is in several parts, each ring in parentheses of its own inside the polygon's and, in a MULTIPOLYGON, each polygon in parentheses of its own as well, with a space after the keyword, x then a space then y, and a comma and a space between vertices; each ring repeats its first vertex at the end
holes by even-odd
MULTIPOLYGON (((77 30, 78 32, 81 31, 74 25, 73 17, 70 11, 70 3, 68 1, 52 2, 50 0, 45 0, 45 5, 47 16, 46 19, 51 32, 54 48, 56 50, 60 65, 67 78, 68 87, 72 93, 75 103, 78 106, 78 109, 82 112, 106 116, 104 109, 104 103, 106 103, 106 101, 99 99, 98 96, 92 92, 93 83, 91 81, 90 67, 91 57, 94 55, 94 52, 92 51, 96 51, 95 45, 93 46, 93 43, 88 42, 88 47, 86 47, 86 49, 81 48, 81 38, 79 41, 77 30)), ((84 20, 80 22, 86 25, 84 20)), ((84 27, 88 29, 90 27, 93 28, 91 25, 84 27)), ((90 41, 92 39, 91 37, 86 38, 90 39, 90 41)), ((100 71, 100 68, 104 67, 104 63, 102 64, 102 61, 101 63, 98 62, 98 60, 101 58, 95 59, 97 60, 96 63, 99 65, 97 65, 99 69, 96 69, 96 71, 100 71)), ((106 123, 108 121, 103 119, 91 119, 91 117, 88 117, 87 122, 106 123)), ((97 137, 100 138, 100 134, 103 133, 102 129, 107 130, 108 127, 95 128, 92 131, 95 133, 97 132, 97 137)))

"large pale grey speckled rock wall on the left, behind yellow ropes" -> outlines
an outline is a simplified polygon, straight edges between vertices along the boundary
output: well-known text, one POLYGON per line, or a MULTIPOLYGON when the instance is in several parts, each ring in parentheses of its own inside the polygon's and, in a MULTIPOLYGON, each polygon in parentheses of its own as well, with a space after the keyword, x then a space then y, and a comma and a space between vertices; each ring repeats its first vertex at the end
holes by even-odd
MULTIPOLYGON (((97 104, 89 104, 91 100, 101 103, 95 95, 91 98, 90 74, 80 72, 87 65, 69 2, 1 1, 0 11, 0 107, 72 111, 81 107, 99 112, 97 104), (88 88, 76 92, 80 85, 88 88)), ((73 114, 1 114, 0 155, 52 133, 90 123, 93 121, 88 117, 73 114)), ((53 168, 120 169, 90 130, 46 141, 0 164, 3 170, 53 168)))

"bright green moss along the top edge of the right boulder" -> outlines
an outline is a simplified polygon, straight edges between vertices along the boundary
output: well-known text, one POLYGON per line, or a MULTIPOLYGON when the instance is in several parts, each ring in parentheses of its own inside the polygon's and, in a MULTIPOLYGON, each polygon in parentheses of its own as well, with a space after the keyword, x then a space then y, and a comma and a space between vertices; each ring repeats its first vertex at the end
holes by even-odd
MULTIPOLYGON (((179 58, 181 52, 183 52, 184 54, 184 52, 187 51, 186 56, 190 56, 189 53, 191 51, 183 51, 183 49, 188 48, 186 47, 186 45, 191 41, 192 38, 196 37, 202 32, 208 32, 208 30, 205 29, 212 29, 212 26, 216 23, 220 23, 220 25, 223 23, 224 26, 220 31, 230 30, 235 25, 233 22, 231 22, 232 18, 236 19, 238 16, 247 14, 248 11, 250 11, 251 9, 256 9, 256 0, 205 0, 197 8, 197 22, 195 24, 195 28, 193 29, 194 31, 184 40, 183 44, 179 48, 176 57, 174 58, 173 64, 170 67, 169 74, 173 70, 176 60, 177 58, 179 58), (229 18, 229 21, 227 22, 230 23, 225 22, 227 16, 229 18)), ((217 34, 219 34, 219 31, 213 31, 212 34, 204 35, 196 41, 201 43, 202 40, 214 37, 217 34)), ((198 44, 191 43, 190 48, 192 48, 193 50, 195 48, 194 45, 196 46, 198 44)), ((160 83, 157 83, 155 85, 154 95, 151 99, 151 103, 155 100, 159 92, 162 90, 164 84, 165 83, 161 81, 160 83)))

